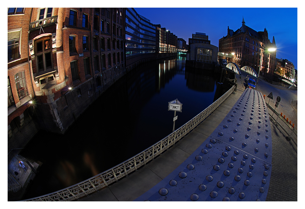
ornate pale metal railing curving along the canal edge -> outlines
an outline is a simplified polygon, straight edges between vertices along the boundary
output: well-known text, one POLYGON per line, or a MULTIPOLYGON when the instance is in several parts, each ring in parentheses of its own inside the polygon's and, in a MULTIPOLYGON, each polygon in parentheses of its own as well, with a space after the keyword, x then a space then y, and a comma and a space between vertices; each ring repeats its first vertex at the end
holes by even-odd
POLYGON ((183 126, 169 134, 159 142, 155 143, 146 150, 140 152, 134 157, 124 161, 123 163, 110 168, 109 170, 102 172, 90 179, 67 187, 63 190, 59 190, 53 193, 49 193, 44 196, 35 197, 23 201, 71 201, 77 200, 80 197, 88 195, 94 191, 100 190, 103 187, 108 186, 113 182, 117 182, 119 179, 128 176, 131 172, 137 170, 141 166, 145 165, 168 148, 174 143, 183 138, 191 130, 196 128, 204 119, 206 119, 221 103, 230 96, 234 91, 235 86, 231 87, 224 95, 217 99, 213 104, 204 109, 194 118, 189 120, 183 126))

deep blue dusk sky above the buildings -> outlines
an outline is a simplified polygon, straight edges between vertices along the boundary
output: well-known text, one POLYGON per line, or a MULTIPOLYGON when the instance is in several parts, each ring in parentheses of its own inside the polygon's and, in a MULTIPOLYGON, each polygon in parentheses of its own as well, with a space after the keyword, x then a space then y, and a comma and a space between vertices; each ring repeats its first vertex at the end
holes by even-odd
MULTIPOLYGON (((159 4, 162 5, 162 4, 159 4)), ((196 6, 196 4, 194 5, 196 6)), ((218 47, 218 41, 227 35, 229 29, 236 31, 242 26, 242 17, 246 26, 256 31, 268 31, 272 42, 274 36, 277 46, 276 57, 288 59, 297 68, 297 8, 135 8, 139 15, 153 24, 160 24, 183 38, 196 32, 209 36, 211 44, 218 47), (262 15, 265 18, 262 19, 262 15), (184 14, 184 15, 182 15, 184 14), (257 15, 256 15, 257 14, 257 15)))

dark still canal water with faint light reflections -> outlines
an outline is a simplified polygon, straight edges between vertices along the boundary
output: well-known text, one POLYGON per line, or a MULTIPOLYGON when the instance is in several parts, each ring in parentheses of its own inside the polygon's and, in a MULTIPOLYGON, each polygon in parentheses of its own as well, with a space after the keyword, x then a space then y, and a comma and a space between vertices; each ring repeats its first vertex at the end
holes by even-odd
POLYGON ((174 112, 168 102, 178 99, 175 129, 213 103, 220 75, 185 70, 185 57, 138 66, 110 87, 64 135, 40 131, 24 157, 43 165, 24 199, 61 190, 133 157, 172 132, 174 112))

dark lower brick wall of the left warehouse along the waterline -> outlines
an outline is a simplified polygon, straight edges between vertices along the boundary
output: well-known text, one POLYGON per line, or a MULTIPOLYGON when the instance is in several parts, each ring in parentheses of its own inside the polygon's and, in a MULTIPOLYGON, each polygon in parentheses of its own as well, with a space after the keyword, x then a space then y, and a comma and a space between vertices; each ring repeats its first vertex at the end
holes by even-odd
MULTIPOLYGON (((33 98, 31 106, 8 125, 8 162, 14 155, 19 154, 41 129, 64 134, 77 118, 126 72, 125 68, 121 68, 112 69, 111 73, 109 70, 104 74, 107 79, 102 80, 102 83, 94 82, 91 78, 74 86, 70 91, 50 94, 47 100, 41 97, 33 98)), ((41 136, 41 140, 43 139, 41 136)))

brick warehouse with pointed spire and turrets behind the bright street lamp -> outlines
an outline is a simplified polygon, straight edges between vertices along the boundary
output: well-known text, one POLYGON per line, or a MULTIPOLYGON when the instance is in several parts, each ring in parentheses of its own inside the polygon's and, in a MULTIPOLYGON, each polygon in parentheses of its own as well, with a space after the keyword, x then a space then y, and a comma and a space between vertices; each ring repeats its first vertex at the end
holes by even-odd
MULTIPOLYGON (((261 53, 267 48, 276 48, 274 37, 268 39, 268 31, 255 31, 245 25, 242 18, 242 27, 235 32, 228 27, 227 36, 219 39, 219 53, 221 59, 236 63, 240 68, 251 66, 256 72, 260 69, 261 53), (232 54, 234 53, 234 54, 232 54)), ((263 54, 262 72, 264 76, 273 79, 276 69, 276 51, 263 54), (269 58, 270 57, 270 58, 269 58)))

